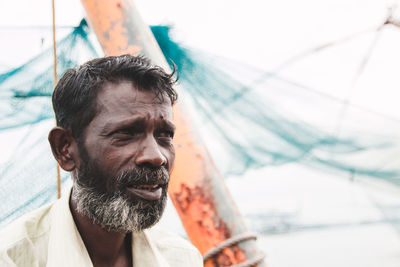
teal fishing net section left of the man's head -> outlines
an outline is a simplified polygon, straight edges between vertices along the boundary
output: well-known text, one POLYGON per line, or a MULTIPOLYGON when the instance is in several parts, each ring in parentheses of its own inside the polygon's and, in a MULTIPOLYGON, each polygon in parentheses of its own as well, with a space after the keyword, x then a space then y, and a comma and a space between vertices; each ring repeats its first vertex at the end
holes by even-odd
MULTIPOLYGON (((59 76, 97 55, 85 21, 57 43, 59 76)), ((0 134, 7 158, 0 167, 0 223, 7 223, 55 199, 56 163, 51 159, 48 130, 54 125, 51 106, 53 50, 0 75, 0 134), (46 133, 47 132, 47 133, 46 133)), ((63 173, 62 181, 67 175, 63 173)))

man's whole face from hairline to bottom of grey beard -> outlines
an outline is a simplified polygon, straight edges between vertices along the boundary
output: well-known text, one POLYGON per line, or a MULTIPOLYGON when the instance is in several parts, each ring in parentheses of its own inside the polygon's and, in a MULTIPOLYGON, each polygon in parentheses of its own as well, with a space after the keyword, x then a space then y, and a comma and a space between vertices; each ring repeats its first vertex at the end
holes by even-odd
POLYGON ((111 230, 150 227, 164 210, 175 158, 171 102, 125 81, 106 84, 96 100, 78 142, 78 211, 111 230))

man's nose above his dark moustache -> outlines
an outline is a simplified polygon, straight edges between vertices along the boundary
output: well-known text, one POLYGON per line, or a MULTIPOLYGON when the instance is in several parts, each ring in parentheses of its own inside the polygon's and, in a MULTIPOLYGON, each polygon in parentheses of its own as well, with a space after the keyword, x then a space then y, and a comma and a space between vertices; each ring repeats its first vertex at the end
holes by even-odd
POLYGON ((161 153, 160 146, 154 136, 147 137, 136 156, 135 164, 137 166, 149 164, 159 167, 167 164, 167 158, 161 153))

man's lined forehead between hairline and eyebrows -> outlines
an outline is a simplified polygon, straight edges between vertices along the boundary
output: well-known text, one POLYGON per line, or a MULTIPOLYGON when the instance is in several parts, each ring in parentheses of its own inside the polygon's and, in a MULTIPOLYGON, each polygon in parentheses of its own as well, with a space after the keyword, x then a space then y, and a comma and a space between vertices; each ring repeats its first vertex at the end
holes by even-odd
POLYGON ((129 81, 106 83, 97 95, 96 109, 95 118, 150 115, 172 119, 171 100, 166 94, 159 99, 149 90, 138 90, 129 81))

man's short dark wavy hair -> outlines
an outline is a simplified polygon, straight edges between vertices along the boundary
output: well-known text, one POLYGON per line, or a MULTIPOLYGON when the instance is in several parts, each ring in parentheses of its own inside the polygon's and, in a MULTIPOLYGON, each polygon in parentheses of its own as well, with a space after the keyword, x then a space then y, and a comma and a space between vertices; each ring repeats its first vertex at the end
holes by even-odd
POLYGON ((69 129, 80 138, 86 126, 96 116, 96 99, 107 83, 129 81, 138 89, 151 91, 160 101, 168 96, 171 104, 178 98, 173 88, 175 68, 171 74, 152 65, 143 56, 110 56, 93 59, 68 69, 53 92, 53 109, 57 125, 69 129))

